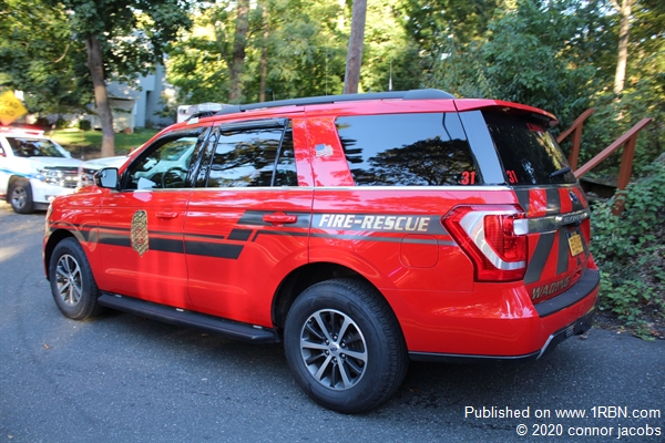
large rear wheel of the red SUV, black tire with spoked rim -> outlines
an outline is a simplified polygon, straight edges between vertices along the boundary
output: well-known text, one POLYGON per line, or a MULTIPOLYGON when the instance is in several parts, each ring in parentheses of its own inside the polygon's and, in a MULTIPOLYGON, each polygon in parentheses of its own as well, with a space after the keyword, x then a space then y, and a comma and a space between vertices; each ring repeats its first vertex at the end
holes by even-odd
POLYGON ((298 296, 286 318, 284 347, 300 388, 344 413, 386 401, 409 364, 388 302, 371 285, 350 278, 323 281, 298 296))

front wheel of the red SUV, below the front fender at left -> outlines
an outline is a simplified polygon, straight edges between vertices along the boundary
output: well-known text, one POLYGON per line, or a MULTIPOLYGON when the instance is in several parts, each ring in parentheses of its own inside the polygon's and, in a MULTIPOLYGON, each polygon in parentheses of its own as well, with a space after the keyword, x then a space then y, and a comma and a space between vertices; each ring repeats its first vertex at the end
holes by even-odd
POLYGON ((60 311, 73 320, 85 320, 102 311, 100 290, 83 248, 74 238, 65 238, 53 249, 49 264, 53 300, 60 311))

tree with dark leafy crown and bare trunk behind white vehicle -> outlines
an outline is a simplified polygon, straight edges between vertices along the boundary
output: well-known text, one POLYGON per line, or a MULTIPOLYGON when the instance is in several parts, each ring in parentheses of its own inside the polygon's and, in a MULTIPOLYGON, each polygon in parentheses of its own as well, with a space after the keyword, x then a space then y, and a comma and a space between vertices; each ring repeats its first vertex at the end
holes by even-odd
POLYGON ((113 114, 105 79, 147 74, 178 30, 191 24, 182 0, 53 0, 70 13, 72 35, 85 43, 96 112, 102 122, 102 156, 114 155, 113 114))

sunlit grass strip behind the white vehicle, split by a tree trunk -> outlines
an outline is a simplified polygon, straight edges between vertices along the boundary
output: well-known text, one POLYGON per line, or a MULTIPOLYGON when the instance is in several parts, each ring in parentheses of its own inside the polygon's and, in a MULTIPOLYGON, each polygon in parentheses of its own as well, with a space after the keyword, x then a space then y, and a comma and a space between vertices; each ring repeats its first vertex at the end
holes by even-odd
MULTIPOLYGON (((157 131, 139 128, 132 134, 115 134, 115 155, 130 153, 134 147, 147 142, 157 131)), ((47 132, 45 135, 49 135, 47 132)), ((73 157, 92 159, 100 157, 102 150, 102 133, 100 131, 57 130, 50 135, 55 142, 68 150, 73 157)))

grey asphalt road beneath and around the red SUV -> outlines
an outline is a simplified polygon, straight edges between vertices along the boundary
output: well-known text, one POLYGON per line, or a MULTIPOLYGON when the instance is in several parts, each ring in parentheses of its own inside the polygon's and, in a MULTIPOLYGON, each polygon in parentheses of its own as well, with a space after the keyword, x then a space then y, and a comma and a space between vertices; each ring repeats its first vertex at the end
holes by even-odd
POLYGON ((65 319, 43 278, 43 217, 0 204, 0 442, 665 441, 665 341, 592 329, 531 363, 412 363, 388 403, 341 415, 299 390, 279 344, 120 312, 65 319))

